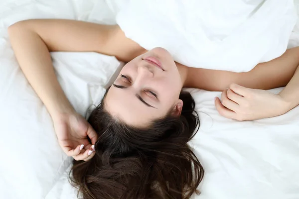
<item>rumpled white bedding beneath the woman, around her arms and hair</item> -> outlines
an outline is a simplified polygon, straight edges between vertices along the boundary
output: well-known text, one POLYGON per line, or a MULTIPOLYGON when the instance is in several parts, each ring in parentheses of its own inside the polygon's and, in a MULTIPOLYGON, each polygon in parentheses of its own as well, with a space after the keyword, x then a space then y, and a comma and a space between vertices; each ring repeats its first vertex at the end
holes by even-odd
MULTIPOLYGON (((0 1, 0 199, 77 198, 67 179, 71 158, 60 149, 48 112, 16 63, 7 27, 27 18, 113 23, 119 10, 111 2, 0 1)), ((299 44, 296 32, 291 39, 289 46, 299 44)), ((51 55, 63 90, 82 115, 122 66, 98 53, 51 55)), ((201 120, 190 144, 206 171, 196 199, 299 199, 299 107, 279 117, 237 122, 217 113, 213 99, 219 92, 188 90, 201 120)))

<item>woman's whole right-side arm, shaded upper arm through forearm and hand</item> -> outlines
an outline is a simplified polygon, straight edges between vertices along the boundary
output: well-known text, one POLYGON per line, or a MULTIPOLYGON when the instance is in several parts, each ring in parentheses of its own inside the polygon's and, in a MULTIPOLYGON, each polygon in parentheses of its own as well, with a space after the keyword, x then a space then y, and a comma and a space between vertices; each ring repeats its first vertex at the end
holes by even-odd
POLYGON ((284 114, 299 105, 299 47, 258 64, 246 73, 187 68, 185 87, 223 91, 215 99, 218 112, 236 120, 255 120, 284 114), (268 89, 284 87, 275 95, 268 89), (239 94, 239 95, 238 95, 239 94))

